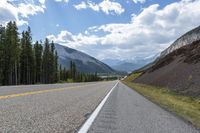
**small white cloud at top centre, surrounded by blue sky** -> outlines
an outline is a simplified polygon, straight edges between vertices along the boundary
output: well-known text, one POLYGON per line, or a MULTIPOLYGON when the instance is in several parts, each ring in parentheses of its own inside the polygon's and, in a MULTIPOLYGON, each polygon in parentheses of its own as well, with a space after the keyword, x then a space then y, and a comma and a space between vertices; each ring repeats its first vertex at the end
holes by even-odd
POLYGON ((74 7, 77 10, 90 8, 94 11, 101 10, 106 14, 118 14, 118 15, 122 14, 125 11, 125 9, 121 6, 120 3, 112 2, 110 0, 103 0, 99 4, 95 4, 92 1, 87 1, 87 2, 82 1, 80 4, 74 5, 74 7))

